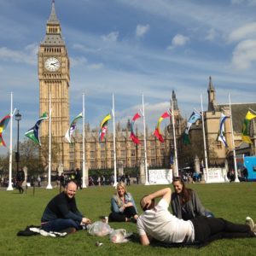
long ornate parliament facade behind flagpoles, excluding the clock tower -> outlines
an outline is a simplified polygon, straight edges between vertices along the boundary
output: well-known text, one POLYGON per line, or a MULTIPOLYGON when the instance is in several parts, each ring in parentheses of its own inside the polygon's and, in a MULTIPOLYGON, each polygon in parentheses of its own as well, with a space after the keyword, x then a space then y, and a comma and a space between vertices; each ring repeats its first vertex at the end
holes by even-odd
MULTIPOLYGON (((175 113, 176 137, 182 136, 185 120, 177 108, 177 98, 172 91, 172 102, 175 113)), ((129 124, 129 120, 128 120, 129 124)), ((172 119, 171 124, 164 129, 165 143, 160 143, 154 137, 153 131, 146 129, 147 159, 149 168, 169 168, 171 166, 171 155, 174 154, 172 119)), ((137 129, 137 137, 141 141, 136 145, 130 138, 130 127, 127 125, 122 129, 120 125, 116 128, 116 160, 117 166, 124 168, 136 168, 144 161, 144 137, 137 129)), ((83 155, 82 135, 76 132, 73 143, 69 148, 69 169, 82 166, 83 155)), ((85 161, 89 169, 113 169, 113 133, 108 130, 107 136, 99 143, 98 129, 90 130, 89 125, 85 128, 85 161)))

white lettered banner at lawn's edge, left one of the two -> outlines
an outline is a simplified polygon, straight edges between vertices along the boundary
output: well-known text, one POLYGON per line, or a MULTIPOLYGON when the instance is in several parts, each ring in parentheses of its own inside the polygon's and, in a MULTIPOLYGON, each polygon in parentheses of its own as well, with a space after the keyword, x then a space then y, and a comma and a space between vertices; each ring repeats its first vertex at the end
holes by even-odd
POLYGON ((148 170, 150 184, 172 183, 172 169, 148 170))

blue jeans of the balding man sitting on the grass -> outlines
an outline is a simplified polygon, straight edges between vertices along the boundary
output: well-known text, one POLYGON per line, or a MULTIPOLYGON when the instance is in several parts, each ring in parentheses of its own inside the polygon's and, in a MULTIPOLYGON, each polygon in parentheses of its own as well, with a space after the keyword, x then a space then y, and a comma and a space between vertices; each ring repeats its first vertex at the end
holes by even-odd
POLYGON ((79 222, 74 221, 71 218, 56 218, 55 220, 51 220, 45 224, 42 224, 42 230, 47 232, 59 232, 61 230, 66 230, 67 228, 75 228, 76 230, 81 230, 79 222))

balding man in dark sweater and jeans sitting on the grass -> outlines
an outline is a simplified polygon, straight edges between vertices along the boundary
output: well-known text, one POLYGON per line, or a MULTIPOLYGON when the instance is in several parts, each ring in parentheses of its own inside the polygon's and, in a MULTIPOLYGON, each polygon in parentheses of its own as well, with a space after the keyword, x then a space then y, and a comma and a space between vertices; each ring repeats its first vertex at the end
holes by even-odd
POLYGON ((76 183, 69 182, 61 194, 49 201, 41 218, 42 230, 70 234, 82 230, 86 224, 91 223, 90 219, 84 218, 77 208, 74 198, 77 189, 76 183))

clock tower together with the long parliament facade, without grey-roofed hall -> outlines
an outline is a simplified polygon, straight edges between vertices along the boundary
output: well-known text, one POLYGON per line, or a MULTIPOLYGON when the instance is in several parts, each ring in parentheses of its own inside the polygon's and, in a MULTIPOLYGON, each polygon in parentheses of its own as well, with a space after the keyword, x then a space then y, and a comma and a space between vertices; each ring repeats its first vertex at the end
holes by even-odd
MULTIPOLYGON (((64 170, 82 167, 83 142, 79 131, 75 132, 72 143, 64 139, 69 126, 69 58, 67 47, 61 37, 61 23, 55 13, 55 1, 52 1, 51 12, 46 24, 46 34, 38 50, 38 79, 40 113, 49 113, 51 105, 52 142, 57 144, 56 160, 52 161, 52 170, 63 166, 64 170)), ((176 137, 180 137, 185 121, 177 108, 177 99, 172 91, 172 101, 176 116, 176 137)), ((157 121, 157 120, 156 120, 157 121)), ((171 119, 172 122, 172 119, 171 119)), ((48 147, 49 120, 42 123, 41 142, 48 147)), ((165 143, 160 143, 153 131, 147 130, 148 167, 170 167, 170 156, 173 155, 172 125, 164 129, 165 143)), ((117 166, 133 168, 140 166, 144 160, 143 134, 137 131, 141 144, 136 145, 130 139, 129 127, 116 128, 117 166)), ((88 169, 113 168, 113 134, 108 131, 103 143, 99 143, 98 129, 85 128, 85 166, 88 169)), ((44 157, 44 160, 47 159, 44 157)))

